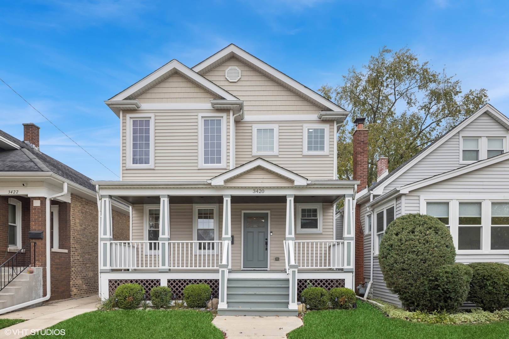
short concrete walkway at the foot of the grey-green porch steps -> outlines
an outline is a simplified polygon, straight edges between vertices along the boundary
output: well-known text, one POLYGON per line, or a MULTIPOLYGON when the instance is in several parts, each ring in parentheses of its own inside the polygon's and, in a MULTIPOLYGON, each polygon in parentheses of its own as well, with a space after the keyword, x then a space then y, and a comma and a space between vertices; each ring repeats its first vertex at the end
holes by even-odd
POLYGON ((286 338, 286 334, 300 326, 302 320, 297 317, 252 317, 217 316, 214 325, 226 332, 228 339, 264 339, 286 338))

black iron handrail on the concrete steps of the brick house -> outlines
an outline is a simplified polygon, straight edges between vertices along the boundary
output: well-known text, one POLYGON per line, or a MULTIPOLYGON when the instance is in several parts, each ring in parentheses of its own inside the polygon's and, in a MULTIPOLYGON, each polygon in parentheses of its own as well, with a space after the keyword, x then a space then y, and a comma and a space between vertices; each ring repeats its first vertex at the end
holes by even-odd
POLYGON ((29 242, 12 257, 0 264, 0 291, 16 279, 30 265, 35 266, 35 242, 29 242), (32 249, 34 244, 34 249, 32 249))

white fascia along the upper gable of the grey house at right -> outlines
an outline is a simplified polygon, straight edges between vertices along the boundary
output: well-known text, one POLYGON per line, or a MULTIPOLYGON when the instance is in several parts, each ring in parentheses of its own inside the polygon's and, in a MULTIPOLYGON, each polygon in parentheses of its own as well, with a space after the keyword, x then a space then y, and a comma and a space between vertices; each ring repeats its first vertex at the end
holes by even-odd
POLYGON ((500 122, 500 124, 507 126, 506 128, 509 129, 509 118, 507 118, 505 115, 500 113, 495 107, 491 106, 490 104, 486 104, 483 107, 481 107, 477 112, 470 115, 468 118, 460 122, 460 124, 456 125, 453 129, 451 129, 449 132, 447 132, 442 138, 437 140, 434 144, 429 146, 425 149, 418 157, 415 157, 411 162, 406 164, 404 167, 398 170, 397 174, 394 174, 390 176, 387 180, 385 180, 379 187, 375 188, 373 190, 374 194, 382 194, 384 188, 387 186, 387 184, 394 181, 394 179, 398 178, 402 173, 405 173, 410 167, 415 165, 418 161, 420 161, 422 158, 426 157, 429 153, 431 153, 433 150, 435 150, 438 146, 443 144, 445 141, 449 140, 452 136, 454 136, 456 133, 458 133, 460 130, 462 130, 465 126, 470 124, 474 119, 476 119, 479 115, 483 113, 488 113, 491 117, 493 117, 495 120, 500 122))

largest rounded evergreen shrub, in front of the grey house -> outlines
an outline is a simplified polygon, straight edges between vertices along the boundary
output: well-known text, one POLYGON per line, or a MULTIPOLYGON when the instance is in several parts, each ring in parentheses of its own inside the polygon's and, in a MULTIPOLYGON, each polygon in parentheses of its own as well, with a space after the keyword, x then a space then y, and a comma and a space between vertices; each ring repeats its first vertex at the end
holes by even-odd
POLYGON ((455 257, 453 237, 444 224, 430 215, 405 214, 387 226, 378 260, 387 288, 418 309, 421 278, 454 264, 455 257))

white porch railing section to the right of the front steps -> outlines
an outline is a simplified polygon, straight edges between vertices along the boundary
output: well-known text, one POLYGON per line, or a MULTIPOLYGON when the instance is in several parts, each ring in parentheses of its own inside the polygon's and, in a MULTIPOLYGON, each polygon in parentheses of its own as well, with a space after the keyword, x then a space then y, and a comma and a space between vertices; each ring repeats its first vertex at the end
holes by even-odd
POLYGON ((294 240, 295 263, 299 268, 344 268, 344 241, 294 240))

